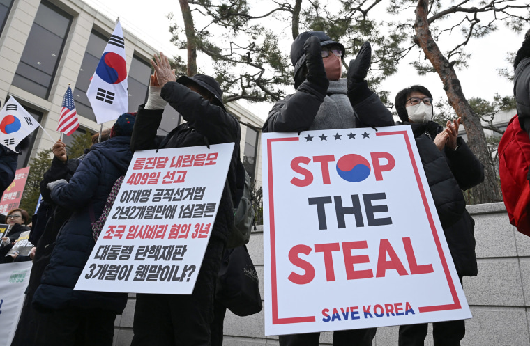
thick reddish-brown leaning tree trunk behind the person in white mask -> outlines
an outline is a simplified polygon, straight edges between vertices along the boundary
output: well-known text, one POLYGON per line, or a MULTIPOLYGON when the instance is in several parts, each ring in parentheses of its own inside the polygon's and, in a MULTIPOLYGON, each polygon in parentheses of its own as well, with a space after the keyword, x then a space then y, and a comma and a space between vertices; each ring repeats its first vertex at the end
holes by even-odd
POLYGON ((502 200, 497 184, 497 175, 494 170, 493 159, 487 150, 486 137, 480 118, 473 112, 464 96, 462 86, 456 72, 438 45, 432 39, 427 22, 428 0, 418 0, 416 7, 416 23, 414 24, 414 42, 420 46, 434 70, 444 83, 444 91, 449 104, 455 109, 458 116, 462 117, 467 132, 467 144, 475 156, 484 165, 484 182, 474 187, 474 203, 491 203, 502 200))

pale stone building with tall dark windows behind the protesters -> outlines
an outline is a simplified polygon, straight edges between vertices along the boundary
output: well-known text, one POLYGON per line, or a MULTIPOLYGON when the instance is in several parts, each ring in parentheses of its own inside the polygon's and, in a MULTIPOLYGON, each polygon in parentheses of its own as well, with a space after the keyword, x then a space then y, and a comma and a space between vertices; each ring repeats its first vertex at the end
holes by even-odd
MULTIPOLYGON (((79 129, 77 133, 100 131, 86 97, 90 79, 115 21, 84 1, 0 0, 0 101, 9 96, 38 120, 43 129, 30 136, 29 149, 23 150, 18 168, 28 166, 40 150, 52 148, 64 93, 71 84, 79 129), (50 134, 48 136, 47 134, 50 134)), ((129 109, 135 111, 146 101, 151 65, 149 59, 160 49, 123 28, 128 70, 129 109)), ((239 104, 227 104, 241 123, 241 159, 252 178, 261 185, 259 129, 263 121, 239 104)), ((159 134, 167 134, 179 121, 179 114, 166 107, 159 134)), ((103 124, 103 129, 114 122, 103 124)), ((70 143, 72 136, 63 136, 70 143)))

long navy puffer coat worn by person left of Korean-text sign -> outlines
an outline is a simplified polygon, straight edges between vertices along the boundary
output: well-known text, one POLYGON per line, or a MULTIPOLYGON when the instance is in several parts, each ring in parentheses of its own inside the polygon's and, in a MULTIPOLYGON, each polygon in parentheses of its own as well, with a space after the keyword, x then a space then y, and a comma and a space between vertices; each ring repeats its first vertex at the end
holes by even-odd
POLYGON ((57 205, 73 211, 61 227, 50 264, 33 297, 42 309, 97 308, 121 313, 127 294, 73 290, 95 245, 91 217, 99 219, 109 193, 132 159, 129 136, 117 136, 92 146, 68 184, 52 191, 57 205))

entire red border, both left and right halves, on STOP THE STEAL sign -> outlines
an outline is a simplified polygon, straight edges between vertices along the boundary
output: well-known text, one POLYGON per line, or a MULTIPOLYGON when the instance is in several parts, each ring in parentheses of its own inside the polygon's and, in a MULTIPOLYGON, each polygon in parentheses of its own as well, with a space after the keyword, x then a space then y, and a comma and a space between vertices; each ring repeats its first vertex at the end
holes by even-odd
MULTIPOLYGON (((414 153, 412 152, 412 147, 409 141, 409 136, 407 136, 407 131, 395 131, 395 132, 377 132, 376 136, 392 136, 392 135, 403 135, 405 143, 407 144, 407 150, 409 151, 409 157, 411 159, 412 168, 414 169, 414 176, 416 177, 416 182, 418 184, 418 189, 420 190, 421 199, 423 201, 423 206, 425 207, 425 212, 427 214, 427 219, 429 220, 429 225, 432 232, 432 237, 434 238, 434 243, 440 257, 441 265, 444 268, 444 274, 446 275, 447 284, 451 296, 453 297, 453 304, 438 305, 438 306, 421 306, 418 307, 420 313, 428 313, 432 311, 444 311, 444 310, 457 310, 462 308, 460 300, 455 289, 453 280, 451 280, 449 267, 447 265, 446 257, 444 251, 441 249, 440 239, 436 231, 436 226, 434 225, 434 219, 432 219, 432 213, 427 203, 427 196, 425 195, 425 190, 423 189, 423 184, 421 182, 420 173, 418 167, 416 166, 416 160, 414 159, 414 153)), ((298 137, 287 137, 287 138, 276 138, 276 139, 267 139, 267 162, 268 162, 268 212, 270 219, 270 237, 271 237, 271 299, 272 299, 272 317, 273 324, 291 324, 291 323, 303 323, 303 322, 315 322, 315 316, 301 316, 301 317, 287 317, 280 318, 278 317, 278 288, 277 288, 277 278, 276 278, 276 239, 275 239, 275 219, 274 219, 274 188, 273 188, 273 160, 272 160, 272 143, 274 142, 283 142, 283 141, 298 141, 298 137)))

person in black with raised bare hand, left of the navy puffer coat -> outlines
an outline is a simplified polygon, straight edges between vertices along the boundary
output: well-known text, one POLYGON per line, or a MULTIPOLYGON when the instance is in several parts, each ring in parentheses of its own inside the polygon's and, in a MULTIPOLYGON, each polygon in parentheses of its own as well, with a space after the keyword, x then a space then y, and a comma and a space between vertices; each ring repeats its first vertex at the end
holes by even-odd
MULTIPOLYGON (((109 134, 109 129, 103 130, 101 141, 107 140, 109 134)), ((98 143, 98 137, 99 134, 92 136, 92 145, 98 143)), ((56 205, 52 201, 50 189, 47 188, 47 184, 60 179, 70 181, 70 178, 74 175, 82 159, 89 151, 90 148, 86 148, 81 157, 68 159, 66 144, 63 141, 59 139, 52 146, 52 153, 54 154, 52 166, 44 173, 43 180, 40 182, 40 194, 43 196, 43 200, 40 203, 37 213, 33 216, 32 220, 35 226, 31 228, 29 237, 31 243, 36 244, 36 248, 33 248, 35 249, 34 252, 32 249, 34 253, 32 258, 33 266, 31 267, 24 306, 11 346, 35 345, 38 323, 47 323, 48 315, 46 313, 38 313, 31 305, 31 301, 33 301, 33 294, 35 294, 38 285, 40 285, 40 277, 43 275, 45 267, 50 263, 50 257, 55 247, 55 240, 59 234, 59 230, 72 214, 71 210, 56 205)))

